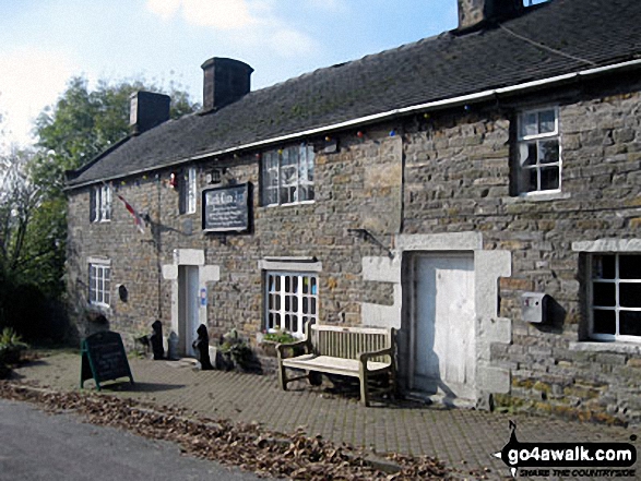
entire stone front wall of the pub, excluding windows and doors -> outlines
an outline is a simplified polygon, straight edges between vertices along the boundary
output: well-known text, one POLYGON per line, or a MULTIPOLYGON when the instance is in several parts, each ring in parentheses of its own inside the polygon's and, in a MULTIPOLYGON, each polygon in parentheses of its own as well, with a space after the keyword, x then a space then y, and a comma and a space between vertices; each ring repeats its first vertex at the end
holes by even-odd
POLYGON ((88 190, 71 191, 68 282, 74 312, 86 317, 87 258, 104 256, 111 261, 111 328, 130 341, 156 318, 167 328, 171 290, 163 265, 176 249, 199 249, 221 273, 207 289, 213 339, 235 327, 254 342, 264 328, 259 262, 266 257, 316 257, 322 263, 320 322, 358 325, 370 312, 364 305, 397 300, 392 280, 364 274, 364 263, 370 265, 364 260, 395 252, 399 235, 475 232, 484 250, 511 257, 511 276, 499 280, 496 299, 498 315, 511 322, 511 342, 488 348, 489 362, 509 373, 510 385, 495 393, 495 406, 638 422, 641 345, 586 339, 585 255, 573 249, 577 242, 640 238, 641 83, 620 77, 603 95, 604 85, 585 82, 532 98, 422 113, 331 133, 330 142, 309 139, 317 151, 311 204, 261 206, 256 152, 200 161, 200 188, 213 167, 226 168, 224 182, 253 185, 248 233, 203 233, 200 199, 197 214, 178 215, 178 192, 167 181, 179 168, 114 182, 149 214, 144 235, 116 196, 112 220, 91 224, 88 190), (562 193, 514 196, 515 112, 553 104, 560 109, 562 193), (352 229, 367 229, 382 246, 352 229), (127 302, 118 299, 118 285, 127 287, 127 302), (525 291, 549 296, 547 323, 522 320, 525 291))

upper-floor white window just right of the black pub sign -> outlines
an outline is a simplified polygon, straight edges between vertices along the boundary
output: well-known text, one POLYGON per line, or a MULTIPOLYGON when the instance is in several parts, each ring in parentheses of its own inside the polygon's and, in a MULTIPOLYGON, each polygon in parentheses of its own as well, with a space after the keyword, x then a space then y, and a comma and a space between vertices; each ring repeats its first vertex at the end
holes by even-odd
POLYGON ((300 144, 262 155, 262 205, 314 200, 313 146, 300 144))

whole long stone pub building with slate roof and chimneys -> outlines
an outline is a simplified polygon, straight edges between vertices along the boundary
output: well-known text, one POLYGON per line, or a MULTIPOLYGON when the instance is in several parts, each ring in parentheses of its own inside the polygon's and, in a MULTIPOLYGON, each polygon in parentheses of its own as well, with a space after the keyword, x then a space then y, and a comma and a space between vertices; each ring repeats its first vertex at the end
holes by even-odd
POLYGON ((200 323, 392 326, 405 393, 638 422, 641 2, 459 13, 254 92, 213 58, 179 120, 133 97, 132 134, 68 179, 78 318, 161 320, 181 356, 200 323))

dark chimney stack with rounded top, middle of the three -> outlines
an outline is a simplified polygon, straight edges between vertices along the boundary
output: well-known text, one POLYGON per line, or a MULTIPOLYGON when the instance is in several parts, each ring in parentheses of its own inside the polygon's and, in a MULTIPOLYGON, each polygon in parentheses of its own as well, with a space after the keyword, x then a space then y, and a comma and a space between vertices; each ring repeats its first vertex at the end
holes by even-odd
POLYGON ((251 89, 253 69, 239 60, 214 57, 202 64, 202 109, 205 112, 239 100, 251 89))

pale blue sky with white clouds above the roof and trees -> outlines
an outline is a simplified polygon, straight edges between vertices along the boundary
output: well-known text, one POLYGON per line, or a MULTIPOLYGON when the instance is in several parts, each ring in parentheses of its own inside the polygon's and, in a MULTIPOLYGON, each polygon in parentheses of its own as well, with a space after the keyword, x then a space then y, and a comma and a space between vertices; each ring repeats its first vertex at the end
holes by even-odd
POLYGON ((456 26, 456 0, 0 0, 0 144, 72 76, 174 83, 202 101, 200 65, 229 57, 258 89, 456 26))

